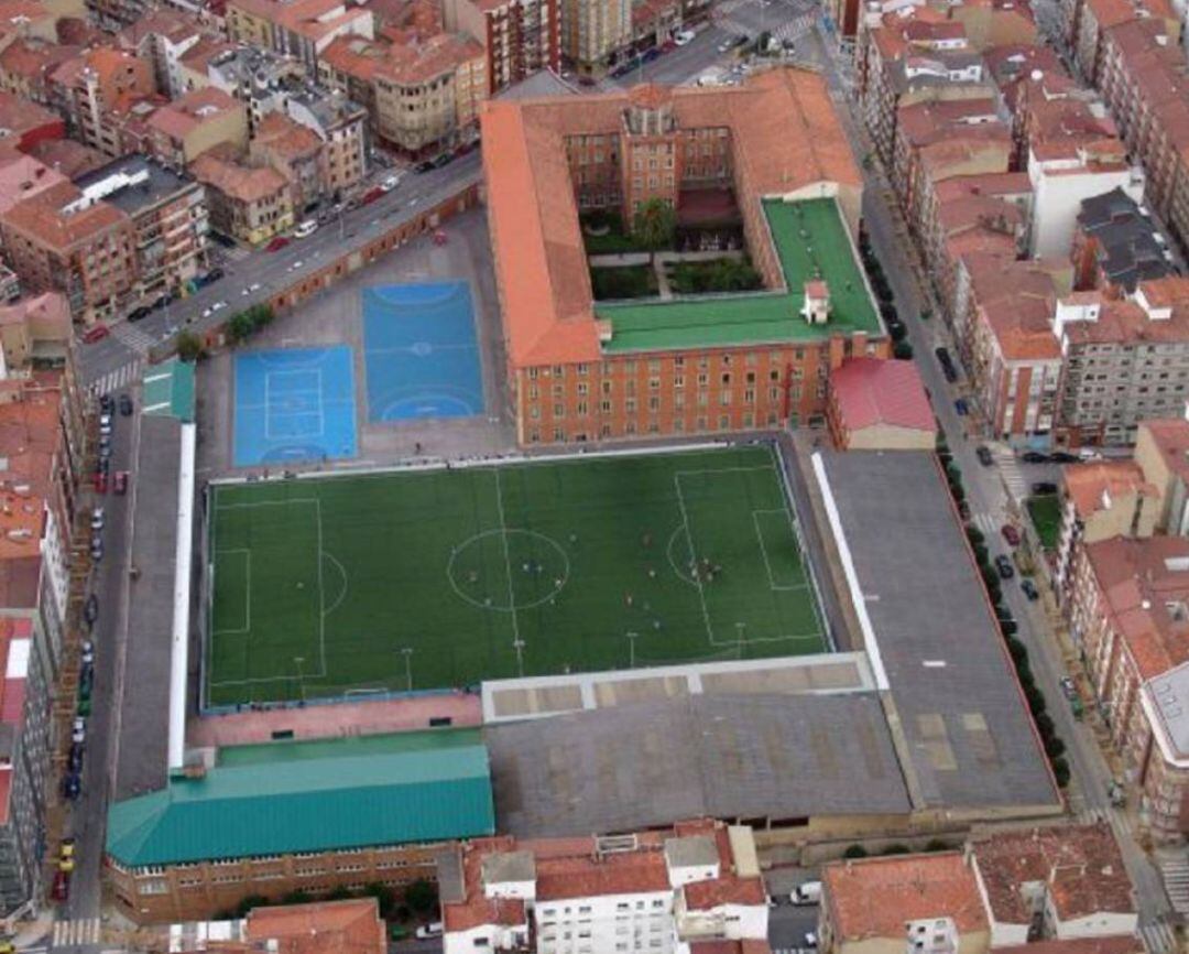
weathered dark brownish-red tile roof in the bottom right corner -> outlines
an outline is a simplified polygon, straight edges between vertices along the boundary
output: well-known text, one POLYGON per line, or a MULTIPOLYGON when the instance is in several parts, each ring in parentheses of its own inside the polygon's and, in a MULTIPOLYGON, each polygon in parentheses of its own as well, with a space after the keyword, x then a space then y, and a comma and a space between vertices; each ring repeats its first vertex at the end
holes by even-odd
POLYGON ((1062 824, 998 831, 970 846, 987 903, 999 922, 1028 924, 1024 885, 1039 881, 1062 921, 1135 912, 1135 898, 1111 826, 1062 824))

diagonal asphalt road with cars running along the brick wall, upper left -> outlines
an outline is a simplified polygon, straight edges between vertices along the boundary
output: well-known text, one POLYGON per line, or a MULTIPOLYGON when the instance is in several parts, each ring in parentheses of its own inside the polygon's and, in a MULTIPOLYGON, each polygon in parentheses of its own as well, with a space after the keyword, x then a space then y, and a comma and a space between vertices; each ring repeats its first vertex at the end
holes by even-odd
MULTIPOLYGON (((365 245, 421 209, 458 192, 464 184, 478 181, 479 167, 479 152, 476 151, 443 169, 409 171, 392 192, 370 205, 342 213, 313 236, 295 239, 276 252, 221 250, 213 245, 212 249, 221 251, 227 259, 224 277, 136 324, 118 322, 113 333, 101 341, 81 344, 78 363, 83 383, 92 385, 112 381, 122 369, 143 362, 152 344, 168 339, 181 328, 200 332, 215 327, 228 315, 264 301, 277 289, 322 268, 345 249, 365 245), (219 301, 227 305, 203 319, 202 313, 219 301)), ((383 180, 386 175, 386 170, 377 171, 371 181, 383 180)))

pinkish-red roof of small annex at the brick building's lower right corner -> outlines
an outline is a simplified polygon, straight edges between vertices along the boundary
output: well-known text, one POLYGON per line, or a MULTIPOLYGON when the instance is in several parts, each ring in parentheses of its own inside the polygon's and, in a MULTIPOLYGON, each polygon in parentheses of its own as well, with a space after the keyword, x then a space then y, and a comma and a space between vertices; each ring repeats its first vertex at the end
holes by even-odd
POLYGON ((830 376, 830 387, 848 431, 876 425, 930 433, 937 429, 913 362, 847 358, 830 376))

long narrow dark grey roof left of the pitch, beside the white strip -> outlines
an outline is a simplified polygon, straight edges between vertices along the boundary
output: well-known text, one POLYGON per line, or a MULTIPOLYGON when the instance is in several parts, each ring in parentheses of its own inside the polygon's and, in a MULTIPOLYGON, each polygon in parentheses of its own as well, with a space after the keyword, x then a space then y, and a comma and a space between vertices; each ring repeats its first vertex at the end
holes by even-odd
POLYGON ((128 585, 127 659, 120 707, 119 754, 113 801, 165 787, 169 762, 170 634, 182 425, 176 418, 143 415, 136 469, 132 565, 128 585))

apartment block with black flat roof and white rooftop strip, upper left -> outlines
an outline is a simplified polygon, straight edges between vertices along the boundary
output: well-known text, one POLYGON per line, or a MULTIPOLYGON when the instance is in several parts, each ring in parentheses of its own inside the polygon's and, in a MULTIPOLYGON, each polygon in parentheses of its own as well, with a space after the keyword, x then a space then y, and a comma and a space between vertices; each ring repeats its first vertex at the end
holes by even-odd
POLYGON ((89 201, 114 206, 136 234, 136 300, 151 301, 206 270, 207 203, 201 184, 143 156, 128 156, 75 180, 89 201))

